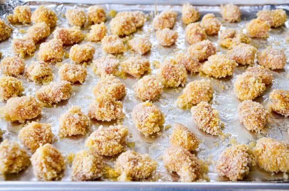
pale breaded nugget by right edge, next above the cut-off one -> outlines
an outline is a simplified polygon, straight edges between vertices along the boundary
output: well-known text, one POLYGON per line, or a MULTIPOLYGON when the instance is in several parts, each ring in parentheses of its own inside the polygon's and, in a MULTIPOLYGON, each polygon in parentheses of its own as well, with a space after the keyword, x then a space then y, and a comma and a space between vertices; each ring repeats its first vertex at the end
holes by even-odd
POLYGON ((287 57, 284 50, 277 48, 266 48, 257 53, 258 64, 271 70, 283 69, 287 57))

